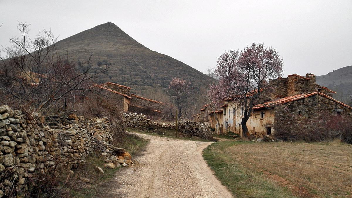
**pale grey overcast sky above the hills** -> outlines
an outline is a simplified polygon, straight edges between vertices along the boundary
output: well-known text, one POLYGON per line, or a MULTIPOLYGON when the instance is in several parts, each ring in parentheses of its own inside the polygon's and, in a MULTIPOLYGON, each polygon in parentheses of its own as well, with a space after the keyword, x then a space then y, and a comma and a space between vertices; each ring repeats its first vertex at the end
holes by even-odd
MULTIPOLYGON (((278 50, 284 75, 323 75, 352 65, 352 0, 0 0, 0 44, 50 29, 64 39, 108 21, 145 47, 205 72, 224 50, 261 42, 278 50)), ((1 56, 5 56, 4 53, 1 56)))

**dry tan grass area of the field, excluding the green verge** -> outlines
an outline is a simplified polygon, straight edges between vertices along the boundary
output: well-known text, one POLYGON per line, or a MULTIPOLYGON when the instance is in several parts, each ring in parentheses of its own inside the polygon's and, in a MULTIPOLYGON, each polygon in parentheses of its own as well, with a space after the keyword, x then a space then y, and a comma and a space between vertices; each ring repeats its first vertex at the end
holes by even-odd
POLYGON ((352 197, 352 145, 339 141, 245 143, 233 144, 226 152, 297 197, 352 197))

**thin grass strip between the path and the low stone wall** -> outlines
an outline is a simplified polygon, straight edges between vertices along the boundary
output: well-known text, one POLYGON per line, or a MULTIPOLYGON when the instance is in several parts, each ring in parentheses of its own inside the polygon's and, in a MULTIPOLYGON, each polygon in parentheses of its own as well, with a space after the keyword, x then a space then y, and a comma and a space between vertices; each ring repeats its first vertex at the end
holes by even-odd
MULTIPOLYGON (((195 137, 195 136, 190 137, 189 135, 183 134, 181 132, 178 132, 176 135, 175 130, 159 129, 158 132, 155 132, 153 130, 147 130, 147 129, 142 130, 142 129, 137 129, 137 128, 126 128, 126 131, 131 131, 131 132, 140 133, 140 134, 154 135, 154 136, 159 136, 159 137, 169 137, 169 138, 174 138, 174 139, 179 139, 179 140, 210 142, 210 140, 205 140, 205 139, 195 137)), ((216 141, 216 140, 214 140, 214 141, 216 141)))

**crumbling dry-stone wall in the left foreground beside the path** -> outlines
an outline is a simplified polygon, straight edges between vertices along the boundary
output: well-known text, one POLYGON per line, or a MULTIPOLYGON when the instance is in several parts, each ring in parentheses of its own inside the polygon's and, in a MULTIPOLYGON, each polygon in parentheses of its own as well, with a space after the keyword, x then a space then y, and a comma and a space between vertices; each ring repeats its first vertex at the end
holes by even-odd
POLYGON ((124 154, 124 149, 110 144, 106 118, 86 120, 74 115, 69 124, 50 128, 32 116, 39 114, 27 115, 0 106, 0 197, 16 196, 16 191, 24 193, 35 173, 48 173, 56 162, 68 167, 84 163, 94 147, 105 152, 107 158, 124 154), (14 194, 9 194, 11 191, 14 194))

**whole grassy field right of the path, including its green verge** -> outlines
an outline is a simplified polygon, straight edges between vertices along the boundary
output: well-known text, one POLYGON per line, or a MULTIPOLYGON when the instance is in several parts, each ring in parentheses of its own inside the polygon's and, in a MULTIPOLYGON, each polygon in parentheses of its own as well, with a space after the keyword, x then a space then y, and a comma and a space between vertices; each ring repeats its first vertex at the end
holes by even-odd
POLYGON ((352 197, 352 145, 222 141, 203 156, 237 197, 352 197))

